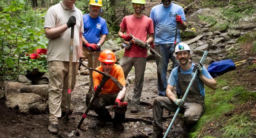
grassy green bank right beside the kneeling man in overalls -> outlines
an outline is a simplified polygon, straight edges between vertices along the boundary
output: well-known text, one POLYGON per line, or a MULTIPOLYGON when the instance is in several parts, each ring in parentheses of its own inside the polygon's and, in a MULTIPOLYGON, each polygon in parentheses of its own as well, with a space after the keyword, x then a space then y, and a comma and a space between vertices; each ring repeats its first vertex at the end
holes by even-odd
POLYGON ((219 79, 217 84, 218 88, 215 91, 206 87, 205 111, 197 124, 193 126, 192 132, 189 133, 192 138, 198 137, 203 126, 207 125, 207 123, 212 122, 220 118, 223 114, 231 111, 234 108, 234 105, 231 103, 237 101, 235 96, 242 92, 246 92, 242 87, 235 87, 229 91, 222 90, 221 88, 223 86, 228 85, 226 80, 219 79))

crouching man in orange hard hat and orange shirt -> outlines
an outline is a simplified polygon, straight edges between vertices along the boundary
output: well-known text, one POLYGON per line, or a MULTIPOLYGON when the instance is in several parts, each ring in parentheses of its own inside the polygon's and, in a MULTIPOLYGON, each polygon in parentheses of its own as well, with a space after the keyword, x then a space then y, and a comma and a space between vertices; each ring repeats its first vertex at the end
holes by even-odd
POLYGON ((123 120, 125 118, 125 112, 127 111, 127 97, 125 95, 125 79, 124 72, 121 66, 114 64, 116 57, 111 50, 103 50, 99 55, 98 60, 101 62, 101 66, 96 69, 109 73, 110 76, 115 77, 121 85, 123 90, 119 90, 117 85, 112 80, 108 80, 103 86, 102 90, 99 89, 99 84, 102 81, 102 74, 93 72, 94 92, 100 92, 98 97, 95 99, 92 109, 99 115, 97 126, 103 127, 107 122, 111 122, 112 117, 105 106, 117 105, 114 107, 114 119, 113 127, 116 130, 123 131, 123 120))

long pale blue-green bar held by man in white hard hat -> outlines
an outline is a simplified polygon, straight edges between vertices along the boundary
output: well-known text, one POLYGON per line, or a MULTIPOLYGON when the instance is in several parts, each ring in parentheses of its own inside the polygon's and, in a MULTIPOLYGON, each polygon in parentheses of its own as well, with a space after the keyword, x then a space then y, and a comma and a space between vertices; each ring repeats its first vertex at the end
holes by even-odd
MULTIPOLYGON (((203 62, 204 62, 204 60, 205 60, 205 58, 206 58, 206 56, 207 56, 207 54, 208 54, 208 52, 209 52, 209 50, 210 50, 210 48, 211 48, 211 45, 212 45, 212 41, 211 41, 210 44, 207 46, 207 49, 206 49, 206 51, 204 52, 204 55, 203 55, 203 57, 202 57, 201 60, 200 60, 200 63, 201 63, 201 64, 203 64, 203 62)), ((195 78, 196 78, 197 72, 198 72, 198 71, 197 71, 197 69, 196 69, 195 73, 192 73, 192 74, 191 74, 193 77, 192 77, 191 81, 189 82, 188 88, 187 88, 186 92, 184 93, 184 96, 182 97, 182 100, 185 100, 186 96, 188 95, 189 89, 190 89, 190 87, 191 87, 193 81, 194 81, 195 78)), ((172 122, 170 123, 168 129, 166 130, 166 133, 165 133, 165 135, 163 136, 163 138, 166 138, 166 137, 167 137, 167 134, 169 133, 169 130, 170 130, 170 128, 172 127, 173 122, 174 122, 175 118, 177 117, 179 111, 180 111, 180 107, 178 107, 178 109, 176 110, 176 112, 175 112, 175 114, 174 114, 174 116, 173 116, 172 122)))

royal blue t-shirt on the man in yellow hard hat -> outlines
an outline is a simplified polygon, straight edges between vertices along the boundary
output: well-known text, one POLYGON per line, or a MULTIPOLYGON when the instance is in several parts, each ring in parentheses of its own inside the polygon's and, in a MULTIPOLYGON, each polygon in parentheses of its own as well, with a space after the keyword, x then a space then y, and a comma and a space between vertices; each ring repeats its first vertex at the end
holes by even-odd
POLYGON ((90 44, 97 44, 101 35, 109 34, 106 20, 99 16, 92 18, 89 14, 83 15, 83 26, 83 36, 90 44))

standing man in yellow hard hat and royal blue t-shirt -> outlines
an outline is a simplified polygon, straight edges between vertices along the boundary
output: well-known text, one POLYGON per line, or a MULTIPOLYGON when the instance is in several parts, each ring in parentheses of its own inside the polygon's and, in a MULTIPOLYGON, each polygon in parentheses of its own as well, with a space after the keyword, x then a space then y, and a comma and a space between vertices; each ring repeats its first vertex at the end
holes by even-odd
MULTIPOLYGON (((90 0, 90 13, 83 15, 83 57, 82 61, 88 59, 88 67, 96 68, 100 65, 97 60, 101 53, 101 45, 108 35, 108 27, 106 20, 99 16, 101 12, 102 0, 90 0), (94 58, 93 58, 94 57, 94 58), (95 60, 93 60, 95 59, 95 60), (94 62, 93 62, 94 61, 94 62), (94 64, 94 65, 93 65, 94 64)), ((90 80, 92 79, 92 71, 90 72, 90 80)), ((92 83, 90 81, 90 83, 92 83)), ((91 85, 90 85, 91 86, 91 85)))

